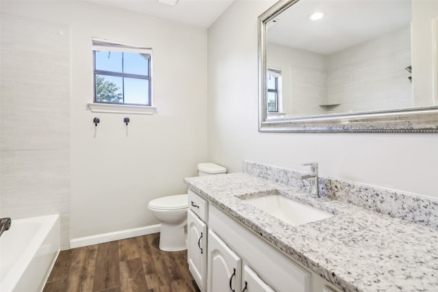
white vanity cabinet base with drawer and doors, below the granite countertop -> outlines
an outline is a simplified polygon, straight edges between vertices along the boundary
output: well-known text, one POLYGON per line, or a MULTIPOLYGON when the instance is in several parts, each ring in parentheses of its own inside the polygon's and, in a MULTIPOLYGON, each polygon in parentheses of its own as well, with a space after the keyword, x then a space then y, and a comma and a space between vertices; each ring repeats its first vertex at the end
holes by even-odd
POLYGON ((201 291, 339 291, 192 190, 188 198, 188 263, 201 291))

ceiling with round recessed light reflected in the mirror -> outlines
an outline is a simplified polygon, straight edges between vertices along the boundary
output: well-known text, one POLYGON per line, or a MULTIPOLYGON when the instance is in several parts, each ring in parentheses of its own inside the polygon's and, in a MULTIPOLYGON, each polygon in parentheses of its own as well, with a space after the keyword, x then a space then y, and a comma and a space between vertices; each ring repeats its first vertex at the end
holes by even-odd
POLYGON ((329 55, 411 22, 410 0, 298 1, 268 25, 268 42, 329 55), (323 11, 320 21, 307 16, 323 11))

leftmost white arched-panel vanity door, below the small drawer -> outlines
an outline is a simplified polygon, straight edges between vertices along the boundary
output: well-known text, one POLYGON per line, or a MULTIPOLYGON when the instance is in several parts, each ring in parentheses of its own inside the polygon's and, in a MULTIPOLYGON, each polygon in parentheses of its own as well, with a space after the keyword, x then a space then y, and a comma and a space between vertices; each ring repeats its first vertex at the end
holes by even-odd
POLYGON ((205 291, 207 287, 207 224, 189 210, 187 226, 189 270, 199 289, 205 291))

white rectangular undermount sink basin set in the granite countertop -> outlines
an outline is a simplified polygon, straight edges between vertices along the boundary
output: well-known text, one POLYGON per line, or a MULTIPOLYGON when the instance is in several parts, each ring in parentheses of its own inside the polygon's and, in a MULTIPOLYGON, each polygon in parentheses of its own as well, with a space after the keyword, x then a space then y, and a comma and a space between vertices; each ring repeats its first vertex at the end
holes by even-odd
POLYGON ((298 226, 333 216, 332 213, 327 211, 316 209, 307 204, 302 204, 279 195, 248 198, 244 201, 292 226, 298 226))

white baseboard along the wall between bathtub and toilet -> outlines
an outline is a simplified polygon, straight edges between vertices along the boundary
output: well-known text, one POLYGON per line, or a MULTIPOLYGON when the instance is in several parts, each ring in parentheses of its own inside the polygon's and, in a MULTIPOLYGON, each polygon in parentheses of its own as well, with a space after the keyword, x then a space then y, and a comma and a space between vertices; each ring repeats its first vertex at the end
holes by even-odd
POLYGON ((120 240, 141 235, 149 235, 151 233, 159 233, 160 227, 161 224, 155 224, 146 227, 115 231, 112 233, 102 233, 100 235, 79 237, 70 240, 70 248, 81 248, 83 246, 92 244, 105 243, 108 241, 120 240))

